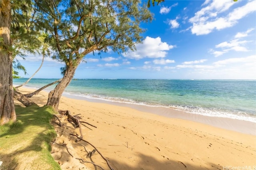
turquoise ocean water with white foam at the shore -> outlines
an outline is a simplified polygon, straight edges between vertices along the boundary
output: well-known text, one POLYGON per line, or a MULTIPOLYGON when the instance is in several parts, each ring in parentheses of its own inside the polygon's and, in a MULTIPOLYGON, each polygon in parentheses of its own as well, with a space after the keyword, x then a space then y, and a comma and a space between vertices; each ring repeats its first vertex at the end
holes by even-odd
MULTIPOLYGON (((14 79, 13 84, 26 80, 14 79)), ((33 78, 26 86, 40 88, 55 80, 33 78)), ((65 93, 256 122, 255 80, 76 79, 65 93)))

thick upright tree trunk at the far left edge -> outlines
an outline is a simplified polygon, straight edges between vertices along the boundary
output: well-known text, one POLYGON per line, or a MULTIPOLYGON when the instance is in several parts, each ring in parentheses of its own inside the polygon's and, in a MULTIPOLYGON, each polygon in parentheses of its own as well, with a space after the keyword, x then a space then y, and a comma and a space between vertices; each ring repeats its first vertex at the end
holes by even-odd
POLYGON ((12 53, 10 51, 10 0, 0 1, 0 124, 16 121, 12 86, 12 53))

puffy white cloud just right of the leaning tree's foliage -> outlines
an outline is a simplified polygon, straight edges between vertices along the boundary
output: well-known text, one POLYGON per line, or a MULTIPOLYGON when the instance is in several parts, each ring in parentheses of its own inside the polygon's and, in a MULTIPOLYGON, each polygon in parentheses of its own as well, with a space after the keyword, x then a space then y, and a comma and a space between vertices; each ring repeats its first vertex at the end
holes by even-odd
POLYGON ((143 59, 143 58, 163 58, 166 57, 168 50, 173 49, 176 45, 168 45, 162 42, 160 37, 146 37, 142 44, 136 44, 136 51, 128 51, 122 55, 128 59, 143 59))

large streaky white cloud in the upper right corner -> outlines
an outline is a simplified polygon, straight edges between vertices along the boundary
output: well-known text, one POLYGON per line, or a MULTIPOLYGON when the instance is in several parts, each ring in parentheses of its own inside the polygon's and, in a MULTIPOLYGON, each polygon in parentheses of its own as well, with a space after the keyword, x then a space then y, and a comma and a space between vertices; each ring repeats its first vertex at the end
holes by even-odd
POLYGON ((192 34, 205 35, 211 33, 214 29, 220 30, 232 27, 238 20, 256 11, 255 1, 249 1, 246 5, 235 8, 228 15, 220 17, 222 12, 227 11, 234 4, 236 3, 230 2, 230 0, 211 1, 208 6, 196 12, 195 16, 189 19, 193 24, 192 34))

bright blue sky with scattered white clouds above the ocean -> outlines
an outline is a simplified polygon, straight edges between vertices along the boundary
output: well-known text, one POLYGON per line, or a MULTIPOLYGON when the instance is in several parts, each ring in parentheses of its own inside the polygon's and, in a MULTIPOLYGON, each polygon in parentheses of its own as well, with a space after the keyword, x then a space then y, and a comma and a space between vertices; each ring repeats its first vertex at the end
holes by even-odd
MULTIPOLYGON (((146 2, 146 1, 144 1, 146 2)), ((256 0, 165 0, 137 51, 85 56, 74 78, 256 79, 256 0)), ((42 57, 19 60, 30 77, 42 57)), ((34 78, 61 78, 62 63, 46 58, 34 78)))

